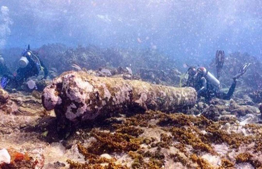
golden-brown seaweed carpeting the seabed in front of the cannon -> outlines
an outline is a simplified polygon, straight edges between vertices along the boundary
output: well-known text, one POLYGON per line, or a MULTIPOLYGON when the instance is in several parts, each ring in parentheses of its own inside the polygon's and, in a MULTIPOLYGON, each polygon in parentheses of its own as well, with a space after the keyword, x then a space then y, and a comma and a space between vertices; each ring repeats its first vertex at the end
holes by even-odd
MULTIPOLYGON (((233 122, 231 122, 234 124, 233 122)), ((227 143, 231 148, 238 148, 242 144, 256 143, 255 151, 259 151, 261 139, 260 134, 244 137, 234 132, 228 133, 221 129, 221 125, 225 125, 225 121, 213 122, 203 116, 193 117, 185 114, 165 114, 159 111, 146 111, 143 114, 134 114, 131 117, 123 118, 122 123, 112 122, 112 131, 100 131, 99 128, 92 129, 86 134, 87 137, 94 137, 86 148, 78 145, 79 152, 84 155, 88 163, 79 164, 70 162, 70 166, 86 167, 96 166, 101 163, 116 163, 115 158, 103 159, 100 157, 103 153, 108 154, 128 154, 132 159, 132 168, 152 168, 158 169, 165 166, 165 159, 171 158, 174 162, 181 162, 184 166, 192 168, 214 168, 208 161, 202 159, 199 155, 201 152, 209 152, 216 154, 212 149, 211 143, 227 143), (154 121, 154 122, 153 122, 154 121), (150 123, 152 122, 152 123, 150 123), (156 125, 152 125, 156 124, 156 125), (160 141, 156 141, 154 137, 141 137, 140 134, 146 130, 140 128, 158 127, 163 132, 160 133, 160 141), (206 131, 206 134, 201 132, 206 131), (147 148, 141 148, 141 144, 149 145, 147 148), (192 146, 193 150, 187 150, 187 146, 192 146), (95 149, 93 147, 96 147, 95 149), (162 152, 171 147, 177 148, 177 153, 170 153, 168 156, 162 152)), ((254 131, 259 127, 250 125, 254 131)), ((248 126, 246 126, 248 127, 248 126)), ((244 154, 236 157, 236 161, 247 161, 253 166, 260 167, 259 160, 255 160, 244 154), (244 158, 246 157, 246 158, 244 158)), ((219 169, 231 169, 235 165, 235 161, 222 159, 219 169)), ((123 166, 122 166, 123 167, 123 166)))

